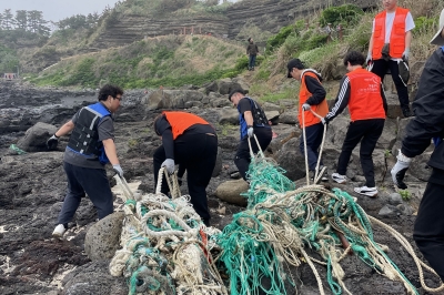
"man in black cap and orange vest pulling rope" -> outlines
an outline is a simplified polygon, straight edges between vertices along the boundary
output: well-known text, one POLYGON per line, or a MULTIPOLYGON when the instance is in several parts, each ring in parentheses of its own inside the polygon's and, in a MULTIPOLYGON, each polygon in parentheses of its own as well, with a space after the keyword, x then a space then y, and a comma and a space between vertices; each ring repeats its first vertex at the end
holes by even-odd
MULTIPOLYGON (((299 123, 301 128, 305 128, 306 138, 306 154, 309 157, 310 176, 313 179, 317 159, 319 148, 322 143, 322 134, 324 126, 321 120, 309 110, 313 110, 321 116, 325 116, 329 112, 329 105, 325 100, 325 89, 322 87, 321 74, 313 69, 305 69, 305 65, 299 59, 292 59, 286 64, 289 70, 287 78, 293 78, 301 82, 299 92, 299 123), (304 112, 304 120, 302 120, 302 112, 304 112), (304 121, 304 122, 303 122, 304 121)), ((304 152, 304 138, 301 136, 300 151, 304 152)), ((320 171, 323 169, 322 162, 320 163, 320 171)), ((322 181, 327 181, 326 173, 321 177, 322 181)))

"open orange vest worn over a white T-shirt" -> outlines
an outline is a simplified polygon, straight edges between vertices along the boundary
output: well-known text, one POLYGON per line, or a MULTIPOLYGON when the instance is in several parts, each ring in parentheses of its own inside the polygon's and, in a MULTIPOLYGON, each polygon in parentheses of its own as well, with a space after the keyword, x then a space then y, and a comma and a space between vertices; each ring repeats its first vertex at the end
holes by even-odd
MULTIPOLYGON (((373 32, 372 59, 382 58, 382 49, 385 43, 385 17, 387 12, 383 11, 375 17, 375 27, 373 32)), ((392 32, 390 34, 390 57, 401 59, 405 50, 405 19, 408 9, 396 8, 395 19, 393 20, 392 32)))

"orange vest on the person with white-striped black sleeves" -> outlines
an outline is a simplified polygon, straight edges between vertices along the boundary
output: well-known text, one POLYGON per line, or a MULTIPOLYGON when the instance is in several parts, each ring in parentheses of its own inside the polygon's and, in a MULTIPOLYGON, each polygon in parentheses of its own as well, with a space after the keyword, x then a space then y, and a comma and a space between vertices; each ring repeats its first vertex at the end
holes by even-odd
POLYGON ((350 79, 349 110, 352 121, 385 119, 381 78, 365 69, 346 73, 350 79))

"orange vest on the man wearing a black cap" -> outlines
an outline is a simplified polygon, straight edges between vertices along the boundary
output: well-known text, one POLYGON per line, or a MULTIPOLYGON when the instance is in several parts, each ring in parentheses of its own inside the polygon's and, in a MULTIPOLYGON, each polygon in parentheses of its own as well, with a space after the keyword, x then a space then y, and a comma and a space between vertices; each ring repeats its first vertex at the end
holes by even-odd
MULTIPOLYGON (((307 128, 307 126, 311 126, 311 125, 314 125, 314 124, 317 124, 319 122, 321 122, 321 119, 315 116, 312 112, 310 112, 310 111, 305 112, 304 110, 302 110, 302 104, 304 104, 305 101, 312 95, 312 93, 306 88, 305 75, 313 77, 319 81, 317 75, 310 70, 304 71, 302 73, 301 90, 299 91, 299 114, 297 114, 297 119, 299 119, 299 123, 301 124, 301 128, 304 128, 304 126, 307 128), (303 125, 303 123, 302 123, 302 112, 305 112, 304 113, 305 125, 303 125)), ((319 82, 321 84, 321 81, 319 81, 319 82)), ((311 105, 311 109, 313 110, 313 112, 317 113, 321 116, 325 116, 329 113, 329 104, 326 104, 326 100, 323 100, 317 105, 311 105)))

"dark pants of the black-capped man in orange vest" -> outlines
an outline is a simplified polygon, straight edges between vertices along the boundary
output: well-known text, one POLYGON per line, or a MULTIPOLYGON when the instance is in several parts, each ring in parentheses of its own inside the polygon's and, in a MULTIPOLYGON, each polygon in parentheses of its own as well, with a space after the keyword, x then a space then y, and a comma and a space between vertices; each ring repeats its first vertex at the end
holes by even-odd
MULTIPOLYGON (((305 128, 306 138, 306 155, 309 156, 309 169, 314 171, 317 164, 319 148, 322 143, 322 135, 324 131, 324 124, 317 123, 305 128)), ((299 144, 299 150, 305 156, 304 152, 304 136, 301 136, 301 142, 299 144)), ((322 165, 322 161, 320 163, 322 165)))

